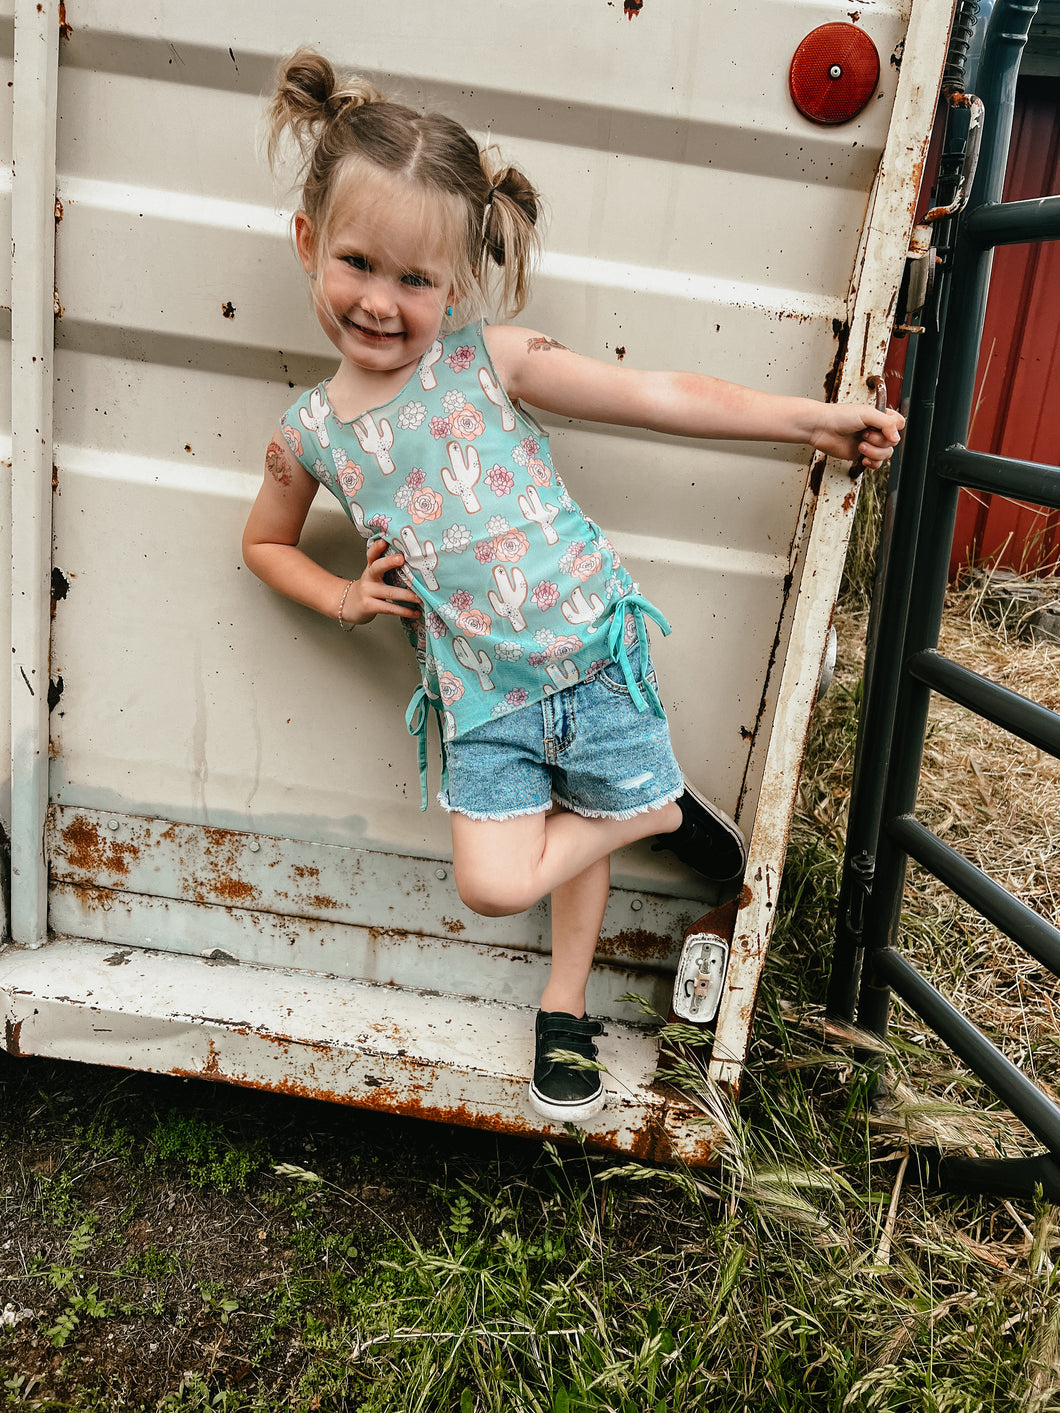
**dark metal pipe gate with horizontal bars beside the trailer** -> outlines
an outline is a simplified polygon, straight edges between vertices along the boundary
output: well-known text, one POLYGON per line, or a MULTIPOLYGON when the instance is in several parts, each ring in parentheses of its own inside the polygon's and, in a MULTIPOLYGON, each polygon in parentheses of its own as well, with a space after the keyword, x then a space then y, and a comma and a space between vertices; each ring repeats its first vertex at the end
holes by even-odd
MULTIPOLYGON (((967 7, 965 7, 967 8, 967 7)), ((936 226, 940 276, 910 342, 909 435, 892 469, 869 623, 847 855, 828 1010, 883 1036, 895 991, 1022 1121, 1046 1152, 1029 1159, 934 1156, 921 1176, 1005 1195, 1040 1186, 1060 1201, 1060 1108, 927 982, 899 951, 909 859, 934 873, 1043 966, 1060 975, 1060 931, 914 817, 931 692, 1060 757, 1060 716, 938 653, 950 544, 961 486, 1060 507, 1060 469, 965 449, 974 379, 998 244, 1060 239, 1060 198, 1002 203, 1020 52, 1036 4, 998 0, 974 86, 985 119, 967 208, 936 226)), ((972 7, 974 11, 974 7, 972 7)), ((960 21, 958 16, 958 21, 960 21)), ((967 35, 965 35, 967 38, 967 35)), ((977 37, 979 38, 979 37, 977 37)), ((972 86, 968 78, 968 86, 972 86)), ((962 105, 950 112, 960 113, 962 105)), ((965 107, 967 110, 967 107, 965 107)), ((967 126, 960 140, 970 140, 967 126)), ((960 146, 960 143, 957 144, 960 146)), ((936 208, 953 203, 960 153, 936 208)))

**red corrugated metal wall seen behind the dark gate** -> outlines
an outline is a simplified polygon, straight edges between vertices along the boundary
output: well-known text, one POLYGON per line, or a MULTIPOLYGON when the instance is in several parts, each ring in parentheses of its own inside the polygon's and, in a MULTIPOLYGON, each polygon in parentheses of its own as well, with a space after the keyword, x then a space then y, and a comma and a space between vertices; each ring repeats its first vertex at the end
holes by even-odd
MULTIPOLYGON (((1060 192, 1060 79, 1020 79, 1005 201, 1060 192)), ((1056 242, 994 252, 968 445, 1026 461, 1060 459, 1060 249, 1056 242), (1025 318, 1033 308, 1035 317, 1025 318), (1052 315, 1049 311, 1053 311, 1052 315)), ((961 492, 951 577, 968 564, 1056 572, 1060 512, 1006 496, 961 492)))

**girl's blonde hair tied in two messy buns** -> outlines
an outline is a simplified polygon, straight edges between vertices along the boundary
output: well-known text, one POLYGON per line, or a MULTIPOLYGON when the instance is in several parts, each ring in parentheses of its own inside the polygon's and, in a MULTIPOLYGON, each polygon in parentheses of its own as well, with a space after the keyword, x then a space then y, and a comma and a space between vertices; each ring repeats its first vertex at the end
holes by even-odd
POLYGON ((454 119, 390 103, 363 79, 339 82, 328 59, 302 48, 280 65, 269 105, 273 168, 287 131, 301 153, 301 208, 318 256, 336 211, 382 172, 421 202, 434 198, 455 301, 500 318, 526 305, 538 250, 537 192, 454 119))

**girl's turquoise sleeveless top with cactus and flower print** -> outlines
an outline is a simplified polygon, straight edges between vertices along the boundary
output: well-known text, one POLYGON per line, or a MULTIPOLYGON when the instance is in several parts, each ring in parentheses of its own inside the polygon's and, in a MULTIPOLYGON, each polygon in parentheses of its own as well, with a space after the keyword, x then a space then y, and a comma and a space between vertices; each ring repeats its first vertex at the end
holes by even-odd
MULTIPOLYGON (((509 401, 481 324, 437 339, 386 406, 342 422, 325 382, 280 425, 360 534, 404 555, 424 605, 410 620, 421 769, 428 704, 452 740, 611 661, 626 670, 626 644, 647 646, 644 613, 669 632, 567 493, 547 432, 509 401)), ((661 715, 628 678, 637 706, 661 715)))

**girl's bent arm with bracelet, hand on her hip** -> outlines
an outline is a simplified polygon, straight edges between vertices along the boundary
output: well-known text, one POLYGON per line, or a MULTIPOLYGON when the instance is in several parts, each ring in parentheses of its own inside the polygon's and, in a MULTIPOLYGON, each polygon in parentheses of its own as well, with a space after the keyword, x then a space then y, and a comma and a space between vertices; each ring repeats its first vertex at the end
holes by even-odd
POLYGON ((367 565, 358 579, 331 574, 298 548, 318 486, 277 431, 269 444, 264 480, 243 531, 246 567, 271 589, 326 617, 338 619, 342 605, 343 623, 370 623, 377 613, 416 617, 420 610, 416 593, 383 578, 404 564, 404 555, 386 552, 384 540, 367 545, 367 565))

